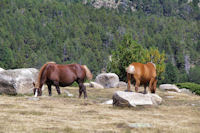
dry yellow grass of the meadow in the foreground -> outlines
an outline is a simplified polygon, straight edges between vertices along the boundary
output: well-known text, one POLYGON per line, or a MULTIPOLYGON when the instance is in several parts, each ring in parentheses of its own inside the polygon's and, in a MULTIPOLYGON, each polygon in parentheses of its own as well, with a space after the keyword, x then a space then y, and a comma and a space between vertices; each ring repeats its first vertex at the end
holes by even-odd
POLYGON ((61 88, 58 96, 39 101, 31 96, 0 95, 0 132, 2 133, 198 133, 200 132, 200 96, 158 91, 160 106, 120 108, 102 105, 116 90, 88 88, 88 99, 78 99, 78 88, 61 88), (75 96, 70 98, 64 90, 75 96), (174 96, 167 98, 167 96, 174 96), (130 128, 128 123, 149 123, 152 128, 130 128))

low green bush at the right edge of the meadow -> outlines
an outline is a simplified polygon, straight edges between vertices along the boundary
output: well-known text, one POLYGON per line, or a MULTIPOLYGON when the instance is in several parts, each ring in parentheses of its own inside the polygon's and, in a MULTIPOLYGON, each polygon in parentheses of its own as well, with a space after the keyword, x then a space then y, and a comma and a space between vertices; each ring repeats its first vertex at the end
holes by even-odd
POLYGON ((197 95, 200 95, 200 84, 185 82, 185 83, 177 83, 176 84, 179 88, 186 88, 191 90, 197 95))

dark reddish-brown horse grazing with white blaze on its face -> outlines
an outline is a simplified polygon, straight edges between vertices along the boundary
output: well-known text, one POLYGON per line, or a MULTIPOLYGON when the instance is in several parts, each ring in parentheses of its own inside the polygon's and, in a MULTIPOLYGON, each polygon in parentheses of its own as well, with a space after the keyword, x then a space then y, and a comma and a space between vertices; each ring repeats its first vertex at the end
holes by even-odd
POLYGON ((42 95, 42 86, 47 84, 49 96, 51 96, 51 86, 56 87, 57 93, 60 95, 60 88, 70 86, 73 82, 77 82, 79 85, 79 98, 84 93, 84 98, 87 97, 86 87, 83 85, 86 77, 91 80, 92 74, 86 65, 80 64, 68 64, 61 65, 55 62, 47 62, 44 64, 39 72, 37 84, 33 89, 35 96, 42 95))

